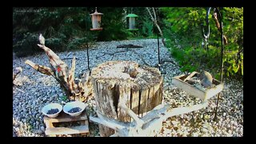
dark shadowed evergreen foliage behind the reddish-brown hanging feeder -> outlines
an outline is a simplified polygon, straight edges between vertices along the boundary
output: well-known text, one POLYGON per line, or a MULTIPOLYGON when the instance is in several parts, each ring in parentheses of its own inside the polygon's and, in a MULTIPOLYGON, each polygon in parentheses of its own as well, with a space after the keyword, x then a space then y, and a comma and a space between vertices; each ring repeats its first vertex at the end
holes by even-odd
POLYGON ((86 41, 110 41, 127 38, 122 21, 122 7, 99 8, 102 12, 102 31, 90 31, 94 7, 49 7, 13 9, 13 50, 18 57, 42 51, 38 36, 46 38, 46 46, 54 51, 75 50, 86 41))

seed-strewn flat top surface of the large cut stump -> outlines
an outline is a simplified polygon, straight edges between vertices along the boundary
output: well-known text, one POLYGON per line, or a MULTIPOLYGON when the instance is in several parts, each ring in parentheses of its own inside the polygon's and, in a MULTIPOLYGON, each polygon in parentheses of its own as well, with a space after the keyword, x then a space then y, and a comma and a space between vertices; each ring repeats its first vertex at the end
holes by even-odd
POLYGON ((91 77, 98 82, 130 81, 134 89, 137 87, 140 90, 156 85, 162 78, 157 68, 129 61, 104 62, 92 70, 91 77))

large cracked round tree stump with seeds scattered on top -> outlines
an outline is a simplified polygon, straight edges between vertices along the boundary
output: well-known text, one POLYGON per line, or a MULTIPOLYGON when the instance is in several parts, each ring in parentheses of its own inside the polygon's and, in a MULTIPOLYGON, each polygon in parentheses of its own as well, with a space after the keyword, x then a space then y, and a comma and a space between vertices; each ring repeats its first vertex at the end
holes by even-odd
MULTIPOLYGON (((118 106, 125 102, 141 118, 162 103, 162 76, 158 69, 139 66, 136 62, 110 61, 91 72, 96 108, 107 118, 130 122, 130 116, 118 106)), ((103 137, 114 130, 99 125, 103 137)))

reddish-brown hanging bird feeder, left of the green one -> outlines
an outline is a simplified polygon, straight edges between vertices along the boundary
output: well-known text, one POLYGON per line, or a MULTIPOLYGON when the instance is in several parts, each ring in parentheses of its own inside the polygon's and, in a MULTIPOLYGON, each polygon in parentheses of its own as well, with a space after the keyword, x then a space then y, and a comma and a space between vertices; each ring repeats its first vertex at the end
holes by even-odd
POLYGON ((93 28, 90 30, 102 30, 102 27, 101 27, 102 13, 98 13, 97 7, 95 9, 94 14, 90 14, 90 15, 91 15, 91 22, 93 25, 93 28))

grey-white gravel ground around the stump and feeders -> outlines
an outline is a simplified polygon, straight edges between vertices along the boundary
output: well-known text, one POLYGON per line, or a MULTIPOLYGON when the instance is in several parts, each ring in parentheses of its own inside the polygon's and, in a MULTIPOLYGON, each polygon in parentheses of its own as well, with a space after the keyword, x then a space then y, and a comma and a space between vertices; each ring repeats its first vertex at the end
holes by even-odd
MULTIPOLYGON (((90 46, 90 69, 98 64, 110 60, 129 60, 139 64, 156 66, 158 64, 158 47, 156 39, 130 40, 119 42, 96 42, 90 46), (121 44, 133 44, 143 48, 116 48, 121 44), (114 54, 114 52, 125 51, 114 54), (143 59, 143 60, 142 60, 143 59)), ((173 61, 167 49, 161 46, 162 60, 173 61)), ((74 52, 56 53, 60 58, 75 56, 75 75, 87 70, 86 50, 74 52)), ((46 54, 38 54, 26 58, 13 58, 13 68, 21 66, 22 73, 18 74, 13 87, 13 136, 14 137, 46 137, 45 124, 42 122, 42 107, 50 102, 58 102, 64 105, 68 100, 53 77, 41 74, 24 62, 29 59, 42 66, 50 66, 46 54)), ((71 59, 63 60, 68 66, 71 59)), ((183 74, 178 66, 171 62, 162 65, 164 76, 164 101, 171 103, 172 107, 191 106, 202 102, 171 84, 171 78, 183 74)), ((158 137, 242 137, 243 136, 243 83, 224 79, 225 86, 219 103, 220 111, 218 122, 211 120, 211 114, 203 114, 213 111, 217 96, 211 98, 206 109, 197 110, 190 114, 182 114, 166 119, 163 122, 161 133, 158 137)), ((94 113, 94 98, 88 102, 86 110, 94 113)), ((90 122, 90 137, 99 136, 98 125, 90 122)))

